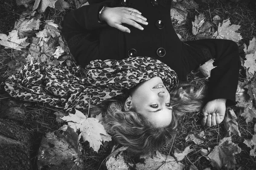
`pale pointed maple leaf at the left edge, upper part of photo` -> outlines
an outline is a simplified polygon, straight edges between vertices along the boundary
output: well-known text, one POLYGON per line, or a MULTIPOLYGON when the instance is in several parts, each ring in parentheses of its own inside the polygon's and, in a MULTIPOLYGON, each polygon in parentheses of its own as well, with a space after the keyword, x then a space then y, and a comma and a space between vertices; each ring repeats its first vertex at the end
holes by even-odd
POLYGON ((26 39, 26 37, 19 38, 18 31, 12 30, 8 36, 6 34, 0 34, 0 45, 3 45, 5 48, 21 50, 21 48, 26 48, 29 45, 26 39))

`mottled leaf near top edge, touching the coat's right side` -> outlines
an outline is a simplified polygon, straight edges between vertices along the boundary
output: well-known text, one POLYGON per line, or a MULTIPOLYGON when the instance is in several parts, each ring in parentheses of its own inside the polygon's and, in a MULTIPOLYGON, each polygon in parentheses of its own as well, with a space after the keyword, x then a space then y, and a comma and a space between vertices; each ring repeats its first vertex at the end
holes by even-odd
POLYGON ((186 17, 186 9, 180 3, 172 3, 171 18, 177 20, 177 23, 180 24, 186 21, 186 17))

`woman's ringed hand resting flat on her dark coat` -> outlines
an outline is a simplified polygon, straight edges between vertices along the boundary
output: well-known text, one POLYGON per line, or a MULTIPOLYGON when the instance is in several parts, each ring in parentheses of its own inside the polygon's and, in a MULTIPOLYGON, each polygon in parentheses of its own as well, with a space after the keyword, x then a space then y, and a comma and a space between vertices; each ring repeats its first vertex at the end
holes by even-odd
POLYGON ((120 31, 130 33, 130 29, 123 26, 122 24, 128 24, 143 30, 144 28, 140 25, 148 25, 146 18, 141 15, 141 12, 134 8, 126 7, 105 7, 99 16, 99 19, 105 21, 109 26, 119 29, 120 31), (131 14, 129 11, 132 11, 131 14))

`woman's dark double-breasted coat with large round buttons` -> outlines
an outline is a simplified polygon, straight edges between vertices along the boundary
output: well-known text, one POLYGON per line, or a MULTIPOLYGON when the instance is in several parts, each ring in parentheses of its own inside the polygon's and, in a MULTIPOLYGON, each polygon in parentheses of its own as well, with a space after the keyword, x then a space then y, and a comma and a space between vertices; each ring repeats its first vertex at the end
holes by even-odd
POLYGON ((121 6, 121 0, 89 0, 83 6, 64 17, 63 34, 76 61, 87 65, 95 59, 124 59, 128 51, 136 49, 137 56, 154 57, 166 63, 177 73, 180 80, 210 58, 215 58, 218 67, 212 70, 209 83, 209 100, 225 98, 234 105, 239 74, 239 54, 235 42, 230 40, 199 40, 181 42, 175 33, 170 17, 171 0, 129 0, 130 8, 139 10, 147 18, 148 25, 141 31, 132 26, 131 33, 124 33, 107 24, 99 23, 99 11, 104 5, 121 6), (156 22, 161 20, 164 28, 156 22), (164 48, 163 57, 157 49, 164 48))

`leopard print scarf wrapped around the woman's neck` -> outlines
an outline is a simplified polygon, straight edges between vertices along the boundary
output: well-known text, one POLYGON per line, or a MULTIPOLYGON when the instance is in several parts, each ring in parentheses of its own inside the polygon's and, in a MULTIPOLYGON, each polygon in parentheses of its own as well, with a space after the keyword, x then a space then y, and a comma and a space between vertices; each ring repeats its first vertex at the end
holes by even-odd
POLYGON ((70 111, 80 111, 122 94, 152 77, 160 77, 167 90, 177 85, 177 74, 150 57, 94 60, 79 78, 67 68, 30 62, 4 83, 10 96, 28 102, 43 102, 70 111), (90 103, 90 104, 89 104, 90 103))

